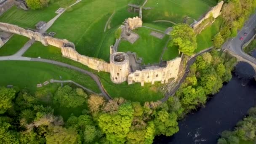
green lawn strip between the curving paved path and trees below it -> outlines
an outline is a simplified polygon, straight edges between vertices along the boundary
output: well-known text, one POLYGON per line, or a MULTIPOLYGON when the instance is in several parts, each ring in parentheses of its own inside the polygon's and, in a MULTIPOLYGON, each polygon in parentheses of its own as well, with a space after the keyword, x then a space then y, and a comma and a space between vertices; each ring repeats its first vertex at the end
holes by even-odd
POLYGON ((0 85, 27 88, 33 93, 38 90, 36 88, 38 83, 43 83, 51 78, 59 80, 59 76, 61 76, 62 80, 73 80, 100 93, 96 82, 90 76, 72 69, 34 61, 0 61, 0 66, 0 85))

